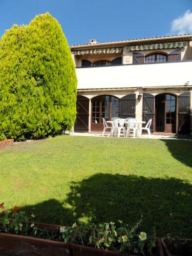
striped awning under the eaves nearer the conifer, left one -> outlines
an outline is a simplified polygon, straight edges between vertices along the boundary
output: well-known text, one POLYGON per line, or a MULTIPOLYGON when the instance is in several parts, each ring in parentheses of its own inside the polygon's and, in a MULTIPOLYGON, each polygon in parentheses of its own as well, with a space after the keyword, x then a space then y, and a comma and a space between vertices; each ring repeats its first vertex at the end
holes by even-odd
POLYGON ((71 51, 74 55, 85 55, 85 54, 106 54, 106 53, 120 53, 122 48, 103 48, 103 49, 94 49, 94 50, 79 50, 79 51, 71 51))

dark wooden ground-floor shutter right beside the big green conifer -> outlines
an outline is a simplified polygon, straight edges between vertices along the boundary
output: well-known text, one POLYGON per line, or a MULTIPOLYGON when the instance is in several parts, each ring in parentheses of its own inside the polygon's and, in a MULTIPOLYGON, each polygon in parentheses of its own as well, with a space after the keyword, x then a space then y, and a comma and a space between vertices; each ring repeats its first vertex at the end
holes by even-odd
POLYGON ((87 97, 77 95, 77 116, 75 121, 76 132, 89 131, 89 99, 87 97))

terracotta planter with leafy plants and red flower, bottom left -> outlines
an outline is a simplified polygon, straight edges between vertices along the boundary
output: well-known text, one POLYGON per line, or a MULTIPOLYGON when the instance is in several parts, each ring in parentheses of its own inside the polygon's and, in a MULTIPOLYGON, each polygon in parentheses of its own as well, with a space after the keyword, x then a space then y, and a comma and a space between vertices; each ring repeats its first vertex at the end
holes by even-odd
MULTIPOLYGON (((4 203, 0 204, 3 209, 4 203)), ((6 255, 70 255, 70 245, 60 239, 56 225, 33 222, 18 207, 0 214, 0 254, 6 255), (61 241, 61 242, 60 242, 61 241)))

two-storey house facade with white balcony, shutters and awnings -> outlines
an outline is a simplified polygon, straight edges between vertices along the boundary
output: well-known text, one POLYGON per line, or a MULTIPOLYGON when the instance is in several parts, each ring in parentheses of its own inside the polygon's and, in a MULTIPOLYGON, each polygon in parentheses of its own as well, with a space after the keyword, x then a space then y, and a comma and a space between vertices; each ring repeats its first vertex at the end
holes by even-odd
POLYGON ((102 131, 102 118, 152 118, 154 133, 192 129, 192 35, 70 47, 76 66, 75 131, 102 131))

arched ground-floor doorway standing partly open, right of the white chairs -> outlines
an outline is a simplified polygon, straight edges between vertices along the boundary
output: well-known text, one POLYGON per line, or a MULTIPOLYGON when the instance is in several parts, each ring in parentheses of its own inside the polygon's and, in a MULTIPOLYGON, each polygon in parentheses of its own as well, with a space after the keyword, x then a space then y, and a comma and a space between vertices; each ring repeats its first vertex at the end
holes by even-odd
POLYGON ((155 97, 155 131, 176 133, 176 96, 168 93, 155 97))

